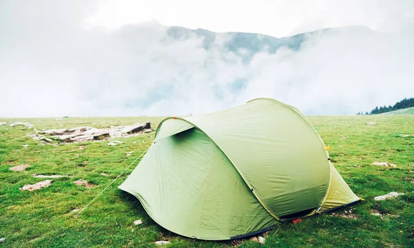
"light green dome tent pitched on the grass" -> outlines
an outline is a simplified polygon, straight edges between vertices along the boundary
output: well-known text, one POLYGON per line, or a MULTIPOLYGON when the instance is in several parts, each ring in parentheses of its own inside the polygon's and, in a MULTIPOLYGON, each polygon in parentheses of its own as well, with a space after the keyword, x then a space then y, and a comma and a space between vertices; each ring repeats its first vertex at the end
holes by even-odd
POLYGON ((311 123, 273 99, 164 119, 119 189, 162 227, 204 240, 257 234, 359 200, 311 123))

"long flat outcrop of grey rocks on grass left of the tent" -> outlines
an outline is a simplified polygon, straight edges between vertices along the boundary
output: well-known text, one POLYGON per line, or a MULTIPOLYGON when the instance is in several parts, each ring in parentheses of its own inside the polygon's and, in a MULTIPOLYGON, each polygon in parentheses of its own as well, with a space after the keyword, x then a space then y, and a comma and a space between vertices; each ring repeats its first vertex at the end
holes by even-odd
POLYGON ((142 133, 154 132, 151 123, 135 123, 126 126, 111 126, 105 129, 95 127, 74 127, 70 129, 35 130, 35 134, 29 134, 36 141, 58 141, 61 143, 78 143, 85 141, 102 141, 110 138, 139 136, 142 133))

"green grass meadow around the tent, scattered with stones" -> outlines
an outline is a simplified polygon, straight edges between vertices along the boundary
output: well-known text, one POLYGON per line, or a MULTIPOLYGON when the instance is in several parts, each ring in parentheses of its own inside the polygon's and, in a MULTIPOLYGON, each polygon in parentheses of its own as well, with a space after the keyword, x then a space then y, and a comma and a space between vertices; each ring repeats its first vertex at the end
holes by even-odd
MULTIPOLYGON (((414 115, 396 116, 310 116, 308 119, 331 147, 333 164, 351 189, 365 201, 352 205, 356 220, 323 214, 304 218, 293 225, 284 223, 266 236, 265 245, 248 239, 212 242, 173 234, 157 225, 134 196, 117 189, 119 178, 86 211, 81 209, 120 174, 152 143, 154 133, 108 141, 68 145, 38 145, 23 127, 0 126, 0 247, 155 247, 163 237, 168 247, 414 247, 414 115), (375 121, 377 125, 366 125, 375 121), (346 139, 341 139, 346 138, 346 139), (28 144, 28 147, 22 145, 28 144), (84 149, 79 149, 80 146, 84 149), (135 151, 133 156, 126 152, 135 151), (371 165, 374 161, 395 163, 397 168, 371 165), (27 163, 26 172, 8 168, 27 163), (357 165, 359 167, 354 167, 357 165), (43 178, 32 174, 62 174, 50 187, 21 192, 19 187, 43 178), (101 173, 110 174, 102 176, 101 173), (85 179, 93 188, 72 182, 85 179), (404 196, 376 202, 375 196, 402 192, 404 196), (380 211, 382 218, 373 216, 380 211), (142 225, 135 226, 134 220, 142 225)), ((161 117, 0 119, 0 122, 28 121, 37 130, 77 126, 126 125, 150 120, 156 127, 161 117), (83 122, 82 124, 80 122, 83 122)), ((344 213, 350 207, 337 209, 344 213)))

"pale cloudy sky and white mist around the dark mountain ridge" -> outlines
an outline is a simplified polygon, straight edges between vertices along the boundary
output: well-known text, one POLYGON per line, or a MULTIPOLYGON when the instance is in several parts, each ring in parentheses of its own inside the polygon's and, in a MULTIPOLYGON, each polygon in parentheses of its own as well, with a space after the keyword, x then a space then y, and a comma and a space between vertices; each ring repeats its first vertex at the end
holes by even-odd
POLYGON ((414 96, 413 30, 414 0, 3 0, 0 117, 201 114, 257 97, 355 114, 414 96), (206 49, 201 37, 170 39, 171 25, 273 37, 359 27, 245 63, 231 34, 206 49))

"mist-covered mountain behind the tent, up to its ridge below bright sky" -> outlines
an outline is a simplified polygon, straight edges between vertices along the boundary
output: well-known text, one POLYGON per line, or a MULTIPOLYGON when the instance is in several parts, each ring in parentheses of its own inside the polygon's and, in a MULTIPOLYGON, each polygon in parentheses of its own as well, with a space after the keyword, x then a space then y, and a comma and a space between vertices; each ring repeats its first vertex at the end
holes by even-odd
POLYGON ((0 105, 12 106, 0 116, 203 114, 257 97, 354 114, 414 92, 411 33, 350 26, 277 38, 155 22, 108 31, 84 28, 88 14, 69 3, 14 8, 0 8, 0 105))

